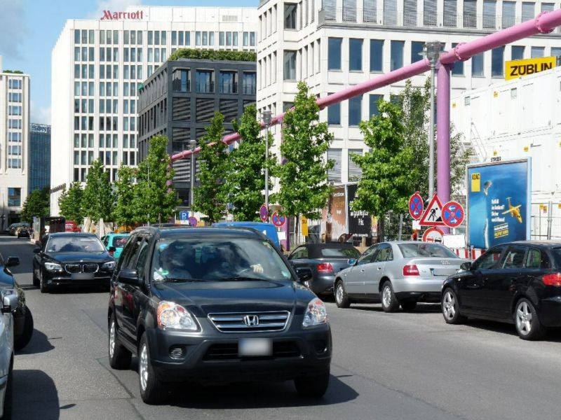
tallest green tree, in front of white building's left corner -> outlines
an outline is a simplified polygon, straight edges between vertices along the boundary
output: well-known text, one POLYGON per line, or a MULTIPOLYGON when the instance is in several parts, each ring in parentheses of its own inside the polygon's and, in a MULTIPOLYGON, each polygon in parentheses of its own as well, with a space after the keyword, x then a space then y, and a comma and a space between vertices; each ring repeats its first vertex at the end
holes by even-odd
MULTIPOLYGON (((283 119, 283 142, 280 155, 284 165, 276 167, 280 190, 276 195, 283 214, 318 219, 332 192, 327 170, 334 162, 325 162, 325 153, 333 140, 327 123, 319 123, 316 97, 309 95, 308 85, 298 83, 294 108, 283 119)), ((298 225, 298 224, 297 224, 298 225)))

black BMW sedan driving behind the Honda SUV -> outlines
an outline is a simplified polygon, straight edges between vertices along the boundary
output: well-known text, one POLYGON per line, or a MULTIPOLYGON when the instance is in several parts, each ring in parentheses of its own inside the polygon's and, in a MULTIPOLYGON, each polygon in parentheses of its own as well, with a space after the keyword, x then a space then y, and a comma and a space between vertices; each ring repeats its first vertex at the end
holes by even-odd
POLYGON ((34 249, 33 284, 48 292, 54 286, 109 287, 115 260, 93 233, 45 235, 34 249))

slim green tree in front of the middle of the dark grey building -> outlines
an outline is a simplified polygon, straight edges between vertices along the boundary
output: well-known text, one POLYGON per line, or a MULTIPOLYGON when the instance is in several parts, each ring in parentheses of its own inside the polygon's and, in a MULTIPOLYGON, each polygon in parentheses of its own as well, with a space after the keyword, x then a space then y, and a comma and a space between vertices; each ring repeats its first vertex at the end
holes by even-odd
POLYGON ((214 223, 222 218, 226 209, 227 188, 224 176, 228 169, 229 156, 227 146, 222 142, 224 134, 224 116, 216 112, 206 133, 199 140, 201 151, 199 159, 199 187, 194 191, 193 209, 205 214, 203 218, 208 223, 214 223), (213 143, 212 146, 209 144, 213 143))

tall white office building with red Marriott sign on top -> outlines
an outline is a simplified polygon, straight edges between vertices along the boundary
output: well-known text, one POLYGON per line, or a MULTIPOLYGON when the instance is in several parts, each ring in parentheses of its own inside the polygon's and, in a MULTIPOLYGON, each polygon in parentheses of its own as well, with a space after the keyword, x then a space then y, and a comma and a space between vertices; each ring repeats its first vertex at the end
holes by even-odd
POLYGON ((255 8, 131 6, 68 20, 52 53, 51 215, 93 160, 111 180, 137 164, 137 90, 171 52, 255 51, 256 34, 255 8))

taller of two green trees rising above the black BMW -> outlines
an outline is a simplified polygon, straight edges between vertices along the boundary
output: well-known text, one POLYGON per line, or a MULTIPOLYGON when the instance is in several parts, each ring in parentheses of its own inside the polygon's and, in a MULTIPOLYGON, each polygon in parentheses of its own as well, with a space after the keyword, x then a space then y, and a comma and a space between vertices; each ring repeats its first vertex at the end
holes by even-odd
POLYGON ((109 172, 104 170, 100 159, 94 160, 88 170, 86 188, 82 196, 82 216, 89 217, 92 221, 111 220, 114 208, 114 195, 109 172))

